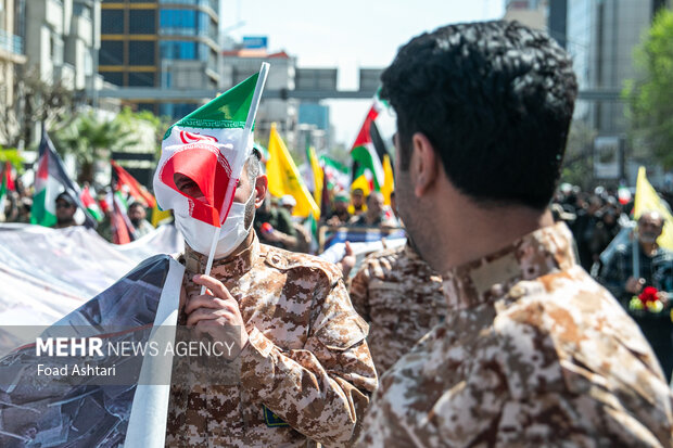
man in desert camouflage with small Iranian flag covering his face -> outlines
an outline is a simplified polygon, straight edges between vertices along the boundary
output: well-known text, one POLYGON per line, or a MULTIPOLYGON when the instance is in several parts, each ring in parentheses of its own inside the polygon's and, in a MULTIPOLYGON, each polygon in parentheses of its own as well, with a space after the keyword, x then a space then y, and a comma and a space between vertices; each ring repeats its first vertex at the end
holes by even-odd
POLYGON ((233 385, 172 385, 167 446, 346 445, 377 385, 341 272, 252 231, 268 182, 250 138, 255 86, 257 75, 182 118, 162 144, 154 191, 187 245, 178 322, 214 338, 239 327, 242 347, 233 385))

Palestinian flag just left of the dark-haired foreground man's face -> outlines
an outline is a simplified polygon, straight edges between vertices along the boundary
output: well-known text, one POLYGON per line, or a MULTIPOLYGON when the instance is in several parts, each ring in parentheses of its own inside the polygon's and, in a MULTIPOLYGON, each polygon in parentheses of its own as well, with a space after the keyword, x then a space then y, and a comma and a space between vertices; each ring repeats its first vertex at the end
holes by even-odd
MULTIPOLYGON (((357 179, 369 171, 373 189, 377 191, 383 185, 384 178, 381 156, 378 154, 372 139, 372 129, 376 130, 374 120, 379 116, 379 112, 380 105, 374 101, 351 149, 351 157, 354 162, 353 179, 357 179)), ((376 135, 378 136, 378 132, 376 135)))

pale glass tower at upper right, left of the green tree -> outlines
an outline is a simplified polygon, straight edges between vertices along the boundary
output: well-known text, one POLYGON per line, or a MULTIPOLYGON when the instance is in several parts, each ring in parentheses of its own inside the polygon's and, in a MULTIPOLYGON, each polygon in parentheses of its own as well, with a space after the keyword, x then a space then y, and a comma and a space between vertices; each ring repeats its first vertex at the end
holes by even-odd
MULTIPOLYGON (((567 49, 581 90, 621 92, 638 76, 634 53, 665 0, 568 0, 567 49)), ((594 129, 594 176, 635 183, 639 149, 626 143, 626 104, 621 99, 580 101, 575 119, 594 129)))

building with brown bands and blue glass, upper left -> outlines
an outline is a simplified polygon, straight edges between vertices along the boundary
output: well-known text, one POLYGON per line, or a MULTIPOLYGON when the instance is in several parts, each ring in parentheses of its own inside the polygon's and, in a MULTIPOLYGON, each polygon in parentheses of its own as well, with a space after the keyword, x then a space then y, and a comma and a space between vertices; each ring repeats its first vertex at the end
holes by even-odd
MULTIPOLYGON (((103 0, 99 73, 122 87, 219 89, 218 0, 103 0)), ((201 102, 128 101, 181 117, 201 102)))

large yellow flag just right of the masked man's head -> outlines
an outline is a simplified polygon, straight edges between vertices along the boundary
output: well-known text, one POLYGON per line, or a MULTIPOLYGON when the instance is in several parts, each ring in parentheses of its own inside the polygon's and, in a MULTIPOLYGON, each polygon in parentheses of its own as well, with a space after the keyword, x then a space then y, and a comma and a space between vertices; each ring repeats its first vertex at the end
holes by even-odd
POLYGON ((269 179, 269 192, 277 197, 285 194, 292 195, 296 201, 293 215, 306 217, 313 214, 314 218, 319 219, 320 207, 316 205, 302 181, 300 170, 276 130, 276 124, 271 125, 268 151, 269 161, 266 163, 266 176, 269 179))

